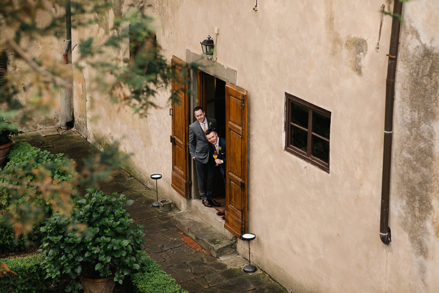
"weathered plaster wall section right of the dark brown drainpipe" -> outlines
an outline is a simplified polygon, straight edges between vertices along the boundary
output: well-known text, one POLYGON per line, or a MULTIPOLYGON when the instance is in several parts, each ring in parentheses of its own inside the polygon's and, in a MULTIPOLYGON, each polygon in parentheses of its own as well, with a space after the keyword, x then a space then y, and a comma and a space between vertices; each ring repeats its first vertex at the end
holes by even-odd
POLYGON ((405 4, 400 35, 390 222, 401 248, 389 264, 411 276, 407 292, 439 291, 438 10, 438 1, 405 4))

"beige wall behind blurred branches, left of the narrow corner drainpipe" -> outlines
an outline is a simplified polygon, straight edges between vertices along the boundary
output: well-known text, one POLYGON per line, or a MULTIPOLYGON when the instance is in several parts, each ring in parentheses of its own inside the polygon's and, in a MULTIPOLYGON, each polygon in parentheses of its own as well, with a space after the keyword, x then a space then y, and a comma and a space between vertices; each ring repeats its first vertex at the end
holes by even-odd
MULTIPOLYGON (((63 14, 63 10, 58 6, 51 6, 50 9, 49 12, 36 14, 37 26, 47 25, 51 15, 60 17, 63 14)), ((28 15, 23 17, 26 18, 28 15)), ((64 96, 64 91, 52 87, 47 89, 41 82, 42 78, 35 74, 36 70, 13 50, 5 36, 11 38, 15 36, 13 26, 4 27, 3 24, 0 34, 0 50, 7 52, 8 83, 17 86, 18 94, 15 97, 23 105, 15 118, 7 120, 17 123, 19 129, 23 131, 60 126, 60 99, 64 96)), ((65 32, 61 36, 44 36, 32 40, 22 34, 19 45, 25 58, 35 58, 45 68, 63 70, 67 66, 63 65, 62 59, 65 32)), ((6 109, 7 105, 2 104, 0 108, 6 109)))

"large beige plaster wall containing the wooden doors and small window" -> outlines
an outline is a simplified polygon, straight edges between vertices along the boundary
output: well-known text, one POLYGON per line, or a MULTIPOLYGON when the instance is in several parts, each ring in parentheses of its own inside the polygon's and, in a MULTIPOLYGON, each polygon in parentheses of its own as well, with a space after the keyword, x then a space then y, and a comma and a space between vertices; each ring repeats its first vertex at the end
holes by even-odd
MULTIPOLYGON (((391 26, 385 17, 379 36, 383 1, 259 1, 257 12, 254 0, 138 4, 151 4, 169 60, 184 60, 187 49, 201 53, 200 41, 220 27, 217 62, 236 69, 237 85, 248 90, 248 230, 257 235, 252 261, 294 292, 437 292, 435 0, 404 4, 390 246, 379 239, 391 26), (283 150, 285 92, 331 111, 329 174, 283 150)), ((87 132, 92 142, 100 136, 106 143, 118 140, 123 151, 134 153, 130 168, 145 182, 162 173, 159 190, 185 209, 170 182, 168 97, 163 89, 160 108, 139 119, 93 95, 87 132)), ((247 254, 241 241, 237 250, 247 254)))

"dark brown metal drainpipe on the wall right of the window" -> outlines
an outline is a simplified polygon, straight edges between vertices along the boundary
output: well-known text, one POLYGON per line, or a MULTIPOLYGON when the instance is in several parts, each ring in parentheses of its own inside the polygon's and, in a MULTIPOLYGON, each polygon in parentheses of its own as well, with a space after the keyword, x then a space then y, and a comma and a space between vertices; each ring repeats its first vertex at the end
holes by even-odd
MULTIPOLYGON (((402 2, 395 0, 393 13, 401 15, 402 2)), ((389 228, 389 198, 390 198, 390 167, 392 159, 392 132, 393 132, 393 101, 395 97, 395 75, 399 45, 399 28, 401 23, 392 19, 390 35, 389 63, 387 65, 386 80, 386 109, 384 118, 384 147, 382 157, 382 186, 381 186, 381 216, 379 222, 379 237, 382 243, 389 245, 391 239, 389 228)))

